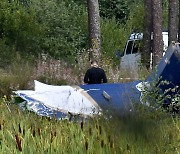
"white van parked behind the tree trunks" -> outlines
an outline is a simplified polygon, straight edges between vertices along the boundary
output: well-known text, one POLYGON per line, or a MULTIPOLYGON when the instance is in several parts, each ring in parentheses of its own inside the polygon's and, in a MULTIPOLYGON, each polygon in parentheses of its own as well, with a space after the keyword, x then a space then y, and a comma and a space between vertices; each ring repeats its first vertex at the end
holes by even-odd
MULTIPOLYGON (((168 48, 168 32, 163 32, 164 52, 168 48)), ((120 67, 131 72, 138 72, 141 62, 143 33, 132 33, 125 45, 123 54, 121 55, 120 67)), ((152 62, 152 54, 151 54, 152 62)))

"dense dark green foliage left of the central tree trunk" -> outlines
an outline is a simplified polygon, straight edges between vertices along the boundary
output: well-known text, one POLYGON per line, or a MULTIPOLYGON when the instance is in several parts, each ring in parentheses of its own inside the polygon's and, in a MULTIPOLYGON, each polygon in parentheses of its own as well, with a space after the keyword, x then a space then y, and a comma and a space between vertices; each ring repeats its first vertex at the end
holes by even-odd
POLYGON ((0 38, 15 51, 72 58, 87 45, 87 13, 72 1, 2 0, 0 7, 0 38))

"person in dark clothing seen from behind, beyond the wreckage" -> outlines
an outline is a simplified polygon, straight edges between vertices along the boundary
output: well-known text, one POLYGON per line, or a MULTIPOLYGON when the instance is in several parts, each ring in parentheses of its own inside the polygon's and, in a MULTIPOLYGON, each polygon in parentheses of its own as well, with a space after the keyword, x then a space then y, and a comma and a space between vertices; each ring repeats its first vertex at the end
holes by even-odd
POLYGON ((91 68, 86 71, 84 83, 100 84, 107 83, 106 74, 103 69, 98 67, 97 61, 91 61, 91 68))

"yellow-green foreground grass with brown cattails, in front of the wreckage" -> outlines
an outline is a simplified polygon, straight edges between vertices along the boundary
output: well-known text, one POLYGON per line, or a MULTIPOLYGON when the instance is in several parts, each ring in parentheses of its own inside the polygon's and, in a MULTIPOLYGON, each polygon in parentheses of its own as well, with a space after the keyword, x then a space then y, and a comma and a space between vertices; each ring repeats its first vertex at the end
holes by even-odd
MULTIPOLYGON (((133 115, 59 121, 0 100, 0 153, 168 153, 180 151, 180 119, 140 107, 133 115)), ((107 117, 108 115, 106 115, 107 117)))

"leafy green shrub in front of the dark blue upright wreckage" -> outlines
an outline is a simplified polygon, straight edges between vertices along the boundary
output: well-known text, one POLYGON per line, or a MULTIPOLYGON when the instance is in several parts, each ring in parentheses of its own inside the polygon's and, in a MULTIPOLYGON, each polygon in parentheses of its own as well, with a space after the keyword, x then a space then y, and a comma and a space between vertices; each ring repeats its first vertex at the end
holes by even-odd
POLYGON ((170 113, 179 113, 180 111, 180 89, 179 86, 172 86, 169 81, 155 80, 151 85, 143 84, 142 102, 151 107, 163 108, 170 113), (163 91, 161 88, 166 87, 163 91))

